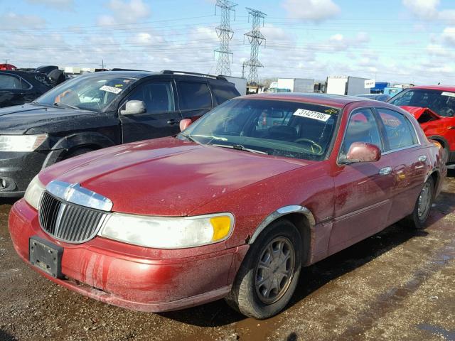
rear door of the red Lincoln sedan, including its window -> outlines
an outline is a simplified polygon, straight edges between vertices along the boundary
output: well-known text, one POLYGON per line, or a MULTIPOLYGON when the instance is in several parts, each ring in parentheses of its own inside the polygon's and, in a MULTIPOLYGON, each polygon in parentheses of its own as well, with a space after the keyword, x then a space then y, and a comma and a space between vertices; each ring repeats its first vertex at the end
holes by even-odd
POLYGON ((382 159, 393 165, 392 207, 387 224, 397 222, 414 209, 427 172, 427 148, 422 147, 412 123, 395 110, 375 108, 385 134, 382 159))

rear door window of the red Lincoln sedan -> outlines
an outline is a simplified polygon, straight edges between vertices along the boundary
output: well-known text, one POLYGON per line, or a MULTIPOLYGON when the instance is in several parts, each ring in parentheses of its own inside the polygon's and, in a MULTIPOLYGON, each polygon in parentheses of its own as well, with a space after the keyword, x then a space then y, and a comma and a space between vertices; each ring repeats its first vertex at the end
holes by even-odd
POLYGON ((418 143, 411 122, 399 112, 378 108, 379 116, 385 126, 389 142, 388 150, 404 148, 418 143))

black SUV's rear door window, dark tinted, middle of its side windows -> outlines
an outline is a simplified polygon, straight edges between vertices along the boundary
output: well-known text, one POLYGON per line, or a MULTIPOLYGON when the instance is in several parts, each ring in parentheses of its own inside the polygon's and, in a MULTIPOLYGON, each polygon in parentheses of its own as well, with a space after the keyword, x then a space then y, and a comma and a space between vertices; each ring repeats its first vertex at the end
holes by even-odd
POLYGON ((178 82, 180 109, 205 109, 212 107, 212 96, 208 85, 198 82, 178 82))

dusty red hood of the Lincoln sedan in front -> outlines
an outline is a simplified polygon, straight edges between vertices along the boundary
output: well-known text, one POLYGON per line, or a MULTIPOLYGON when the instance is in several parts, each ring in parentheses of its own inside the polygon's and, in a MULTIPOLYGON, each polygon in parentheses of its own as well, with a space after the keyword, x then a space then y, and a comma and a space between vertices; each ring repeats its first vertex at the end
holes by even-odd
MULTIPOLYGON (((69 159, 47 168, 40 178, 43 183, 80 183, 112 200, 117 212, 184 216, 211 200, 306 164, 164 138, 69 159)), ((261 195, 252 194, 258 199, 261 195)))

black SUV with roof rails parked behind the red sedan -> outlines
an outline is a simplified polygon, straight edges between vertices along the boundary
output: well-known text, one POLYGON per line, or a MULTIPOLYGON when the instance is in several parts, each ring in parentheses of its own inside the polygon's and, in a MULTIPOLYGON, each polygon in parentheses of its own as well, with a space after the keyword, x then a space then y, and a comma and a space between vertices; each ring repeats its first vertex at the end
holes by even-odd
POLYGON ((23 195, 42 168, 88 151, 178 133, 239 96, 224 77, 108 71, 75 77, 30 104, 0 109, 0 197, 23 195))

